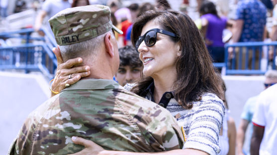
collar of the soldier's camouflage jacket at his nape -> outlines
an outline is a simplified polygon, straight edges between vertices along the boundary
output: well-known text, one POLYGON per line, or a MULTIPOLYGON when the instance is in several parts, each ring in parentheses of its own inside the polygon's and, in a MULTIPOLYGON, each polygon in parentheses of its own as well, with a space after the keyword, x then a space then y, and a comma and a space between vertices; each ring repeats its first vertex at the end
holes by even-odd
POLYGON ((124 89, 119 83, 112 79, 81 79, 78 82, 63 89, 80 90, 80 89, 124 89))

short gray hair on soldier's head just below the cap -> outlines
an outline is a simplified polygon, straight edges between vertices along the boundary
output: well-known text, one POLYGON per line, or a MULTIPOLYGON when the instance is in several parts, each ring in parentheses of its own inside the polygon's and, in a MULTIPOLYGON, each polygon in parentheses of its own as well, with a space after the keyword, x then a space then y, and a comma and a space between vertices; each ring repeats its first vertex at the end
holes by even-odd
POLYGON ((73 59, 77 57, 89 58, 90 60, 94 59, 97 56, 98 52, 100 51, 100 47, 104 44, 104 37, 106 36, 107 33, 111 33, 112 34, 111 36, 113 38, 115 37, 113 31, 110 30, 102 35, 99 35, 95 38, 92 38, 86 41, 60 46, 61 56, 63 58, 63 61, 65 62, 69 59, 73 59), (91 55, 92 57, 89 57, 91 55))

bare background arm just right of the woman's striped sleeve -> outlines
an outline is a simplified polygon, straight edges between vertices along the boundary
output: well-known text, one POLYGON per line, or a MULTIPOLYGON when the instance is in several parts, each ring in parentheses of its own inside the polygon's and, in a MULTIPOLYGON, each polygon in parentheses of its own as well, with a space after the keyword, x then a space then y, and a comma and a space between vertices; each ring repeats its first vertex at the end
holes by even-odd
POLYGON ((229 138, 229 152, 228 155, 236 154, 236 125, 232 117, 229 117, 228 124, 228 138, 229 138))

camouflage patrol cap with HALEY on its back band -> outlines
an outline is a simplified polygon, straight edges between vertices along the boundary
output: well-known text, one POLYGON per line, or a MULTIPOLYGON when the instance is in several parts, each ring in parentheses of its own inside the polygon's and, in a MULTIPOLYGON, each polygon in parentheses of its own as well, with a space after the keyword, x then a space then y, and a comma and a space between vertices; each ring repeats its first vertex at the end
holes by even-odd
POLYGON ((58 45, 69 45, 92 39, 110 31, 120 33, 111 21, 111 11, 105 5, 86 5, 64 9, 49 19, 58 45))

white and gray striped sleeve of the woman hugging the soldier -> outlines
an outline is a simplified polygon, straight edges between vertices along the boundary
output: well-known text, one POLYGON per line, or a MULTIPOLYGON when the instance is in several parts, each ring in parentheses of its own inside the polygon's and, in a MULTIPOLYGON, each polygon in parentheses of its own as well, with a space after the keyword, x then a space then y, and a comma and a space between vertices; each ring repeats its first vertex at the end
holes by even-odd
POLYGON ((220 152, 219 132, 225 114, 223 101, 215 94, 206 93, 201 101, 194 103, 188 138, 183 149, 196 149, 217 155, 220 152))

